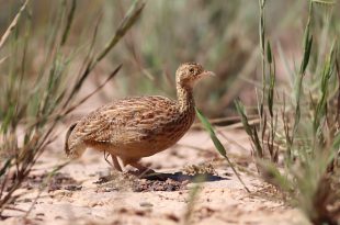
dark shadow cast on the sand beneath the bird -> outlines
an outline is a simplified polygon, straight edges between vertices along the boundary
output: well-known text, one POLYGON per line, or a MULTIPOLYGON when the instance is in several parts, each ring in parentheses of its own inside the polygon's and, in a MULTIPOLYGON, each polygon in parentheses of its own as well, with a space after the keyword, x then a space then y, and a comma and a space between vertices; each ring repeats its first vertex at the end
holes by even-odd
POLYGON ((197 175, 184 175, 183 172, 152 172, 149 175, 144 175, 140 177, 146 180, 152 181, 166 181, 168 179, 175 181, 189 181, 189 182, 202 182, 202 181, 219 181, 219 180, 229 180, 228 178, 219 177, 211 173, 197 173, 197 175))

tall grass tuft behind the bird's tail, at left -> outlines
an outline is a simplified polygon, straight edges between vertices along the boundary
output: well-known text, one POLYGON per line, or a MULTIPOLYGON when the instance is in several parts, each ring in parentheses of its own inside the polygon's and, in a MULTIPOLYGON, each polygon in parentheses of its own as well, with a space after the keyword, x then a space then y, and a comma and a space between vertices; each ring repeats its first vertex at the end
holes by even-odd
MULTIPOLYGON (((99 23, 95 24, 90 40, 84 40, 90 43, 88 47, 80 45, 80 47, 69 48, 67 46, 77 14, 76 0, 60 1, 56 4, 56 13, 50 18, 52 25, 45 31, 48 36, 47 42, 38 43, 38 49, 34 46, 39 36, 33 35, 31 24, 35 12, 31 10, 29 0, 22 4, 0 41, 0 53, 8 56, 1 59, 0 64, 0 69, 4 74, 0 77, 0 83, 2 83, 0 90, 0 216, 20 196, 15 191, 27 178, 47 146, 55 140, 57 124, 120 71, 122 65, 116 67, 92 93, 73 103, 98 63, 106 57, 136 23, 144 4, 141 1, 133 3, 110 44, 104 46, 95 57, 93 52, 99 23), (29 69, 32 66, 29 58, 34 58, 37 50, 43 52, 46 57, 38 61, 38 69, 32 72, 29 69), (86 54, 82 54, 83 52, 86 54), (68 74, 73 72, 77 63, 81 60, 83 63, 76 74, 77 79, 70 83, 71 76, 68 74)), ((50 176, 63 166, 54 169, 50 176)))

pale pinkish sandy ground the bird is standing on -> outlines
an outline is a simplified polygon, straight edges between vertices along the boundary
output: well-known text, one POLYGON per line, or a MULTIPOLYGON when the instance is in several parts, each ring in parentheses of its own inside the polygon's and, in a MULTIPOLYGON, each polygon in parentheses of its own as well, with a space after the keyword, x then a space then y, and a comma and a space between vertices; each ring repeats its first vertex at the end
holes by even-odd
MULTIPOLYGON (((242 132, 225 135, 250 148, 242 132)), ((272 187, 251 175, 256 170, 249 151, 225 142, 231 159, 250 171, 240 173, 251 193, 218 156, 206 133, 194 131, 179 145, 143 159, 150 168, 163 172, 163 180, 112 172, 101 154, 88 150, 58 171, 35 202, 46 172, 67 160, 60 148, 64 133, 59 136, 60 140, 49 146, 20 190, 25 194, 14 206, 25 211, 32 206, 30 214, 23 218, 25 213, 7 211, 4 214, 11 217, 1 224, 308 224, 299 211, 280 201, 272 187), (202 170, 209 169, 208 181, 197 183, 196 176, 179 173, 195 173, 188 166, 200 164, 205 165, 202 170), (189 207, 193 189, 199 191, 189 207)))

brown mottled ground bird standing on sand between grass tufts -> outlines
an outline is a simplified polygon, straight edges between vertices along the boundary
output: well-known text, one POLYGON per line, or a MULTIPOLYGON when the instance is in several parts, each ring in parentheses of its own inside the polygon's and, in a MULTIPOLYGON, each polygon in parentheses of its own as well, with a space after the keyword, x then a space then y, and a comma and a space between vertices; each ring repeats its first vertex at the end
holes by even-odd
MULTIPOLYGON (((65 153, 79 158, 87 148, 111 155, 113 167, 132 166, 140 172, 154 171, 140 159, 174 145, 195 119, 193 88, 215 76, 197 63, 185 63, 175 71, 177 99, 161 95, 131 97, 100 106, 70 125, 65 153)), ((124 168, 123 167, 123 168, 124 168)))

